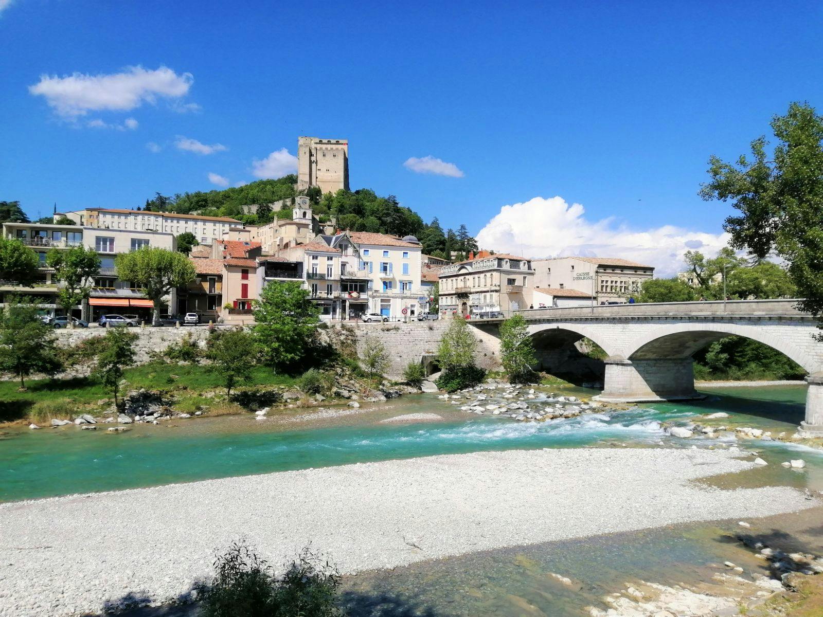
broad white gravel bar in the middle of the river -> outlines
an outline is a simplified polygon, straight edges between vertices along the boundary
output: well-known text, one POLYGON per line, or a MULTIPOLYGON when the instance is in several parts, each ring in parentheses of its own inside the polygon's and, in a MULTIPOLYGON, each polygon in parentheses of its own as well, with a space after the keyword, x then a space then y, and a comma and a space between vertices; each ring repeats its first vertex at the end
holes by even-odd
POLYGON ((207 578, 245 538, 280 564, 301 547, 343 573, 506 546, 818 504, 795 489, 696 480, 754 467, 732 452, 477 452, 0 505, 0 615, 154 603, 207 578))

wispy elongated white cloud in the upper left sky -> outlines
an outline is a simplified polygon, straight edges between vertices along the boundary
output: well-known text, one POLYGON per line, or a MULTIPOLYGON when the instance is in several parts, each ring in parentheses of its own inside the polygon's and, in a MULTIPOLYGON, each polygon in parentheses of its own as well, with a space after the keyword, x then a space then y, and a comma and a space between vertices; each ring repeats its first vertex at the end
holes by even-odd
POLYGON ((71 119, 90 111, 130 111, 143 103, 154 104, 158 97, 178 100, 188 94, 192 82, 191 73, 178 75, 169 67, 151 71, 137 66, 99 75, 41 75, 29 92, 44 96, 56 114, 71 119))

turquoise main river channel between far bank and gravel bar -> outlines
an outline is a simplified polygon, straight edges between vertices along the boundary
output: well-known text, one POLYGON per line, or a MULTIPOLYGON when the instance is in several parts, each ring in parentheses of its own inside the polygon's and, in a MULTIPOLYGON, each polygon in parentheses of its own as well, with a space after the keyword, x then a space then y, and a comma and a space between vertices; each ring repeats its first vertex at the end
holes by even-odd
MULTIPOLYGON (((105 424, 96 431, 74 425, 7 429, 0 438, 0 501, 482 450, 649 447, 664 437, 662 421, 712 411, 728 411, 737 422, 775 434, 793 431, 802 418, 803 387, 728 390, 718 388, 705 401, 690 404, 641 406, 541 423, 469 414, 434 395, 419 395, 360 410, 337 408, 342 415, 331 418, 323 418, 328 414, 318 410, 300 410, 263 421, 237 415, 133 424, 123 434, 107 433, 105 424), (379 422, 420 411, 435 412, 444 420, 379 422)), ((578 397, 595 393, 580 388, 562 393, 571 392, 578 397)), ((544 399, 538 397, 537 402, 544 399)), ((667 443, 685 442, 667 438, 667 443)), ((776 462, 785 460, 789 448, 798 448, 760 441, 756 446, 767 461, 774 457, 776 462)), ((780 481, 783 476, 797 479, 792 471, 775 473, 780 481)))

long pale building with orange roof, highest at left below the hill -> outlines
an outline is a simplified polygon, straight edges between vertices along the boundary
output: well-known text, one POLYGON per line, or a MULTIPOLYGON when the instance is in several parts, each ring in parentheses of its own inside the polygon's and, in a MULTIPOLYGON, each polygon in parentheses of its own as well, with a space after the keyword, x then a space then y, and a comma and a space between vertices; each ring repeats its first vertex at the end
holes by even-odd
POLYGON ((239 220, 227 216, 199 216, 174 212, 86 208, 55 214, 67 216, 77 225, 104 230, 153 231, 163 234, 194 234, 200 244, 212 244, 230 234, 233 227, 243 227, 239 220))

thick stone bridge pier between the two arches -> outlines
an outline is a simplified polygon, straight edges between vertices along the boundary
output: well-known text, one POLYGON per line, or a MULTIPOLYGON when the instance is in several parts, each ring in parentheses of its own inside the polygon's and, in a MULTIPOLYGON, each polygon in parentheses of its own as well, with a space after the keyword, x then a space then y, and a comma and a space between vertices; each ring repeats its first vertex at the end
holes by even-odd
POLYGON ((608 358, 605 364, 603 392, 595 397, 598 401, 644 403, 702 398, 702 395, 695 391, 695 373, 691 358, 608 358))

